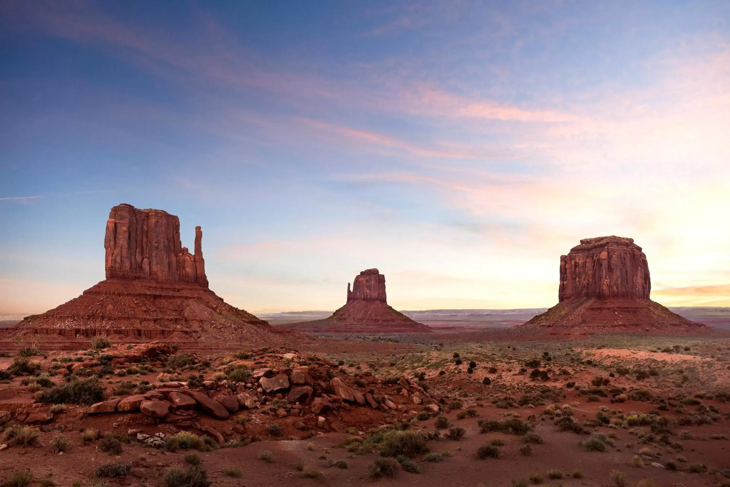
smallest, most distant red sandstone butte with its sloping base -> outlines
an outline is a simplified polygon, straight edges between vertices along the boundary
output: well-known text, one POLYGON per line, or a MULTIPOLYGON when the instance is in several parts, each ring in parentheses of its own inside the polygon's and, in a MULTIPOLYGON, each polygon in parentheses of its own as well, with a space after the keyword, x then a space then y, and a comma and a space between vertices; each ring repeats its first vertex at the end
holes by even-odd
POLYGON ((323 333, 429 333, 428 326, 413 321, 388 305, 385 276, 367 269, 347 283, 347 302, 329 318, 291 323, 287 328, 323 333))

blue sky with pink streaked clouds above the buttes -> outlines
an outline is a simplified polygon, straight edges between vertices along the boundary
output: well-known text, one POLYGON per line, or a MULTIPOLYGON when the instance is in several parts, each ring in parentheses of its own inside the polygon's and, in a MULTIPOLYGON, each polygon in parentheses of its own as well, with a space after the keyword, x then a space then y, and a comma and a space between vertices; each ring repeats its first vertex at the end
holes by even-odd
POLYGON ((548 307, 580 239, 730 306, 730 2, 0 2, 0 314, 104 279, 110 208, 202 226, 210 287, 548 307))

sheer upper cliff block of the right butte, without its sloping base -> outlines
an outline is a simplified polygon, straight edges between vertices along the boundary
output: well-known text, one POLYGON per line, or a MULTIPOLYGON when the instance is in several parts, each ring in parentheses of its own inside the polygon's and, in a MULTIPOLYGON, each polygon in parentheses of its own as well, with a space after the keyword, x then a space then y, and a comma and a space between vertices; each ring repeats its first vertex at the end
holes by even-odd
POLYGON ((560 258, 558 301, 572 298, 649 299, 649 264, 634 239, 582 239, 560 258))

